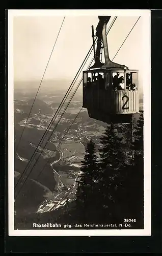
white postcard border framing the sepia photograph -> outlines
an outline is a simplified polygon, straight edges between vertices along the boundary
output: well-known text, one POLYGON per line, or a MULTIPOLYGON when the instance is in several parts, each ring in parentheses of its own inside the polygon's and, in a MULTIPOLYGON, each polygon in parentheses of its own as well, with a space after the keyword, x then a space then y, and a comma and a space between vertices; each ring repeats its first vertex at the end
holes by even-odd
POLYGON ((151 47, 150 10, 8 10, 8 199, 9 236, 151 236, 151 47), (14 16, 111 15, 141 16, 143 19, 144 91, 144 229, 14 230, 14 16))

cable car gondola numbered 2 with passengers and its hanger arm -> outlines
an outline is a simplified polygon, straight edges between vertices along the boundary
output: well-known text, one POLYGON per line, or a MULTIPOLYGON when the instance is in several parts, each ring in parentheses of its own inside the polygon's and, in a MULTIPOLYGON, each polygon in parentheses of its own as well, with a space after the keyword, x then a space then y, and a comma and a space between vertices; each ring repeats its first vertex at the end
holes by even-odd
POLYGON ((83 72, 83 108, 88 110, 89 117, 108 124, 130 123, 132 114, 139 113, 138 70, 129 70, 110 60, 106 24, 111 16, 98 17, 96 52, 92 26, 95 63, 83 72), (102 42, 105 63, 100 60, 102 42))

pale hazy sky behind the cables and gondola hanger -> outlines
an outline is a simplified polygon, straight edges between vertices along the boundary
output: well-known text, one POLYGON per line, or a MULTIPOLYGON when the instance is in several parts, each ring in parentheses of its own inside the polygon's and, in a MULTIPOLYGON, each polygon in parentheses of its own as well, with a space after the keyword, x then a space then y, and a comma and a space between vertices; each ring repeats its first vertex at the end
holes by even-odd
MULTIPOLYGON (((118 16, 107 36, 112 59, 139 16, 118 16)), ((17 16, 13 23, 14 81, 40 81, 64 16, 17 16)), ((107 24, 107 28, 111 24, 107 24)), ((46 70, 45 80, 74 78, 92 45, 98 16, 66 16, 46 70)), ((142 72, 142 18, 114 61, 142 72)), ((92 52, 93 54, 93 52, 92 52)), ((85 70, 93 55, 87 62, 85 70)), ((38 84, 39 86, 39 84, 38 84)), ((45 85, 44 85, 45 86, 45 85)))

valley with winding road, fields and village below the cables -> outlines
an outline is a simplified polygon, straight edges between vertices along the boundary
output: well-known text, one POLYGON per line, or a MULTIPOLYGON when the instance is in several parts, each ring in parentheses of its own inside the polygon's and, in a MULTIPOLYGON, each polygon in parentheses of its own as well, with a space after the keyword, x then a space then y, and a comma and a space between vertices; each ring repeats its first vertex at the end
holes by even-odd
POLYGON ((55 211, 75 199, 85 146, 91 138, 96 145, 99 144, 99 137, 106 127, 105 123, 90 119, 83 109, 67 132, 82 107, 82 101, 74 100, 57 125, 64 111, 61 109, 41 141, 59 103, 51 103, 47 97, 44 101, 36 100, 35 109, 28 118, 31 104, 32 100, 26 96, 14 101, 14 176, 15 184, 18 182, 15 189, 16 219, 55 211))

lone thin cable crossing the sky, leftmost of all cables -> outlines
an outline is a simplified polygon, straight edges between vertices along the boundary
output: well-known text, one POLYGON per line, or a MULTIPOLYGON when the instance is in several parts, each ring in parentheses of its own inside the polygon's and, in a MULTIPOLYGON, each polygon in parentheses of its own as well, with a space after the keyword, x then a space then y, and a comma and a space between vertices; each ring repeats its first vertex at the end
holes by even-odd
POLYGON ((58 35, 57 35, 57 38, 56 38, 56 40, 55 40, 55 44, 53 45, 52 51, 51 51, 51 53, 50 53, 50 56, 49 56, 49 59, 48 59, 48 62, 47 62, 46 68, 45 68, 45 70, 44 70, 44 73, 43 73, 42 79, 41 79, 41 81, 40 81, 40 84, 39 84, 39 87, 38 87, 38 90, 37 90, 36 96, 35 96, 35 98, 34 98, 34 101, 33 101, 32 107, 31 107, 31 110, 30 110, 30 112, 29 112, 28 118, 27 118, 26 123, 25 123, 25 125, 24 125, 24 127, 23 127, 23 131, 22 131, 22 133, 21 133, 20 140, 19 140, 19 142, 18 142, 18 144, 17 144, 17 146, 16 146, 16 152, 17 152, 18 146, 19 146, 19 144, 20 144, 20 141, 21 141, 21 139, 22 139, 22 135, 23 135, 23 133, 24 133, 24 130, 25 130, 26 124, 28 123, 28 120, 29 120, 30 114, 31 114, 31 112, 32 112, 32 109, 33 109, 33 105, 34 105, 34 103, 35 103, 35 100, 36 100, 36 98, 37 98, 37 95, 38 95, 39 89, 40 89, 40 87, 41 87, 41 84, 42 84, 42 81, 43 81, 43 78, 44 78, 45 72, 46 72, 47 67, 48 67, 48 63, 49 63, 50 58, 51 58, 51 56, 52 56, 53 50, 55 49, 55 46, 56 46, 56 43, 57 43, 57 40, 58 40, 58 37, 59 37, 60 31, 61 31, 61 29, 62 29, 62 26, 63 26, 64 20, 65 20, 65 16, 64 16, 64 18, 63 18, 63 21, 62 21, 62 24, 61 24, 60 30, 59 30, 58 35))

